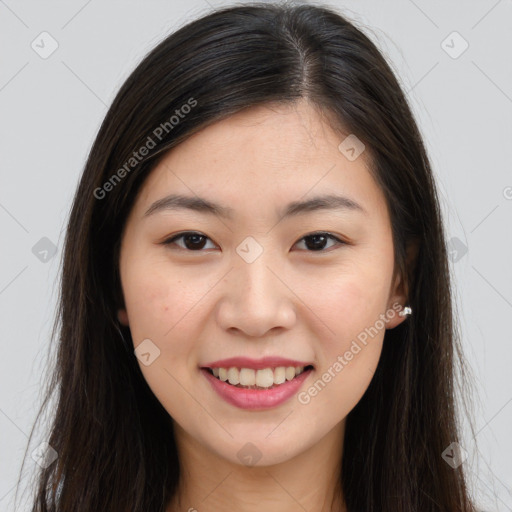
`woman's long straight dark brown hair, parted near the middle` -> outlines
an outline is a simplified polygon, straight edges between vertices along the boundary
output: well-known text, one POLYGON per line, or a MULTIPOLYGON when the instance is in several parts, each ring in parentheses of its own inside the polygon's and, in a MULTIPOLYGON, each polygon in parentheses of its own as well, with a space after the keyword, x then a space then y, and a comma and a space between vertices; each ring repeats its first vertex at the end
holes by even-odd
POLYGON ((58 457, 38 473, 33 512, 164 512, 170 503, 180 476, 172 421, 116 316, 125 221, 170 148, 243 108, 301 98, 366 145, 413 310, 386 331, 347 417, 339 486, 348 510, 474 510, 464 466, 442 457, 459 440, 464 361, 436 187, 404 93, 374 43, 331 8, 253 3, 166 37, 122 85, 94 141, 67 225, 56 361, 37 416, 56 392, 48 443, 58 457))

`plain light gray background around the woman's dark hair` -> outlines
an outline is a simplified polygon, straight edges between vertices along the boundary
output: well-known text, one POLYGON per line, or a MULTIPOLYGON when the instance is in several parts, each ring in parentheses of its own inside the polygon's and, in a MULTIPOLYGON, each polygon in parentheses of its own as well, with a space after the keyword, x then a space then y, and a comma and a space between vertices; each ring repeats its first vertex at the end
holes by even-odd
MULTIPOLYGON (((157 42, 227 3, 0 0, 2 511, 13 509, 49 364, 71 198, 106 106, 157 42), (58 44, 45 59, 31 47, 51 49, 43 31, 58 44), (44 253, 53 245, 55 255, 44 253)), ((381 48, 424 135, 474 382, 476 437, 464 423, 464 464, 482 508, 512 511, 512 1, 325 4, 381 48)), ((36 467, 30 453, 44 440, 38 432, 29 447, 25 485, 36 467)))

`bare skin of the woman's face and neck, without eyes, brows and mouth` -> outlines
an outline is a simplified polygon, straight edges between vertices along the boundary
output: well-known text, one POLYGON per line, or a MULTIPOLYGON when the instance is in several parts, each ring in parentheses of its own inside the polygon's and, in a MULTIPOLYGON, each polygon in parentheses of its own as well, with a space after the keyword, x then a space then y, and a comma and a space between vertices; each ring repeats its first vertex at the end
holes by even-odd
POLYGON ((149 338, 160 350, 139 366, 174 421, 183 471, 169 511, 326 512, 332 503, 346 510, 335 499, 345 419, 370 384, 385 329, 405 320, 392 305, 405 306, 407 290, 393 274, 384 195, 367 153, 349 161, 338 149, 345 136, 305 101, 251 107, 169 152, 135 201, 122 237, 118 316, 134 347, 149 338), (289 202, 332 192, 367 213, 278 216, 289 202), (191 210, 144 217, 169 193, 230 206, 234 217, 191 210), (162 243, 183 231, 207 238, 189 240, 192 249, 183 238, 162 243), (347 243, 328 238, 314 250, 304 237, 318 231, 347 243), (263 248, 252 263, 236 252, 247 236, 263 248), (312 362, 307 390, 379 315, 386 325, 307 404, 294 396, 271 409, 239 409, 199 369, 226 357, 281 355, 312 362), (254 466, 237 456, 247 442, 261 453, 254 466))

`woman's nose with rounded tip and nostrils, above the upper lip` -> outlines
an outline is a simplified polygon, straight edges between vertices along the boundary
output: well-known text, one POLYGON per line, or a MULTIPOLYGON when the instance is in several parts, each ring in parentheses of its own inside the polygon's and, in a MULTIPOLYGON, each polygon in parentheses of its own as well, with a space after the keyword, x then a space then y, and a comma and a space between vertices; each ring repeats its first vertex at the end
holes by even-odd
POLYGON ((236 255, 217 309, 222 329, 259 338, 271 330, 290 329, 295 324, 295 295, 276 268, 279 265, 275 258, 267 256, 266 251, 252 263, 236 255))

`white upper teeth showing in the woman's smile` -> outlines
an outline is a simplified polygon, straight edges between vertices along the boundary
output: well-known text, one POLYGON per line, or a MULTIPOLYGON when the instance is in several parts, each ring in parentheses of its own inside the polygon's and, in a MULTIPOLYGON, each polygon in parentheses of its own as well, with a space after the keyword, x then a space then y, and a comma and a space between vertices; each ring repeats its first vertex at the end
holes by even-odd
POLYGON ((304 366, 278 366, 277 368, 212 368, 213 375, 222 381, 242 386, 259 386, 270 388, 274 384, 282 384, 285 380, 292 380, 304 371, 304 366))

